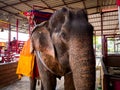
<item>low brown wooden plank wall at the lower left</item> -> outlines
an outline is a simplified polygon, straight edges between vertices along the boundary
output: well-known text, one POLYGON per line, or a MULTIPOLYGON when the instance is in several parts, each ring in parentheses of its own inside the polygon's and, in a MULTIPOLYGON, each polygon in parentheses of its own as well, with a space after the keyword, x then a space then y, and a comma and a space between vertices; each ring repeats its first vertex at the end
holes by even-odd
POLYGON ((0 88, 18 80, 16 68, 17 62, 0 64, 0 88))

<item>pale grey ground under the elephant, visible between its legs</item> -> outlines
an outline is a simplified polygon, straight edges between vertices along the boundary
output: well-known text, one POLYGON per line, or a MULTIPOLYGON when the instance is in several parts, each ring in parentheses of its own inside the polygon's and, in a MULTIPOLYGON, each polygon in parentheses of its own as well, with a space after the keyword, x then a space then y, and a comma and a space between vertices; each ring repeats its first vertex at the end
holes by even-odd
MULTIPOLYGON (((0 90, 30 90, 29 78, 22 77, 21 80, 16 81, 15 83, 8 85, 0 90)), ((40 85, 36 87, 36 90, 40 90, 40 85)), ((61 80, 57 79, 57 88, 56 90, 64 90, 64 78, 61 80)))

